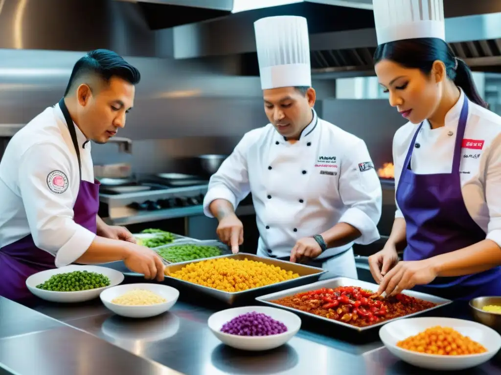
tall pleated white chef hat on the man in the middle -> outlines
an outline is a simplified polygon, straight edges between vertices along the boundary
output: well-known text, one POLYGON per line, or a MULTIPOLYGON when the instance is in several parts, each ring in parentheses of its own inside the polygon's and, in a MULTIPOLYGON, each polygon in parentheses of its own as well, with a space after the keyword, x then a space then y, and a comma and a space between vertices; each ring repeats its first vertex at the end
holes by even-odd
POLYGON ((283 15, 254 22, 263 89, 311 86, 306 18, 283 15))

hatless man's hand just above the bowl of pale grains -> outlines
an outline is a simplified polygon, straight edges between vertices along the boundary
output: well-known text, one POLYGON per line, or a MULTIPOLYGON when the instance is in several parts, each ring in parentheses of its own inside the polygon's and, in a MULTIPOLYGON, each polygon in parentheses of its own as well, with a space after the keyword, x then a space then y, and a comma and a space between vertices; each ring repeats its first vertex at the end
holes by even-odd
POLYGON ((131 271, 144 274, 144 278, 163 280, 162 260, 155 251, 146 246, 130 243, 124 263, 131 271))

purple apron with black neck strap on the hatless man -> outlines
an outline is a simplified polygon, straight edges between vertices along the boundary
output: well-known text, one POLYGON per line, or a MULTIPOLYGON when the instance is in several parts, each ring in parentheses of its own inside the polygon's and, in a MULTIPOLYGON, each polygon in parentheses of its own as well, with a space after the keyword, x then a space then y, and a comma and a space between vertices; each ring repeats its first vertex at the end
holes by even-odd
MULTIPOLYGON (((71 139, 78 157, 80 186, 73 206, 74 221, 96 233, 97 212, 99 209, 99 181, 95 183, 82 180, 80 149, 75 125, 71 119, 64 98, 59 101, 71 139)), ((0 295, 18 302, 27 302, 33 294, 26 286, 26 279, 34 273, 56 268, 55 257, 38 248, 31 234, 0 248, 0 295)))

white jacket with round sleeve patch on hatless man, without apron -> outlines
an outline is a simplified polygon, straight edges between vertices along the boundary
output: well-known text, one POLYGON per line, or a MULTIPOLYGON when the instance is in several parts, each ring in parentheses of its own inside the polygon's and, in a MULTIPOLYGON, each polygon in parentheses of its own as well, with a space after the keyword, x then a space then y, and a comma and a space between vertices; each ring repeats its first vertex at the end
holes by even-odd
MULTIPOLYGON (((82 179, 94 182, 91 144, 75 126, 82 179)), ((37 247, 55 255, 61 267, 78 259, 95 234, 73 220, 80 175, 63 112, 56 104, 40 113, 10 140, 0 162, 0 248, 30 233, 37 247), (62 171, 69 185, 53 192, 48 175, 62 171)))

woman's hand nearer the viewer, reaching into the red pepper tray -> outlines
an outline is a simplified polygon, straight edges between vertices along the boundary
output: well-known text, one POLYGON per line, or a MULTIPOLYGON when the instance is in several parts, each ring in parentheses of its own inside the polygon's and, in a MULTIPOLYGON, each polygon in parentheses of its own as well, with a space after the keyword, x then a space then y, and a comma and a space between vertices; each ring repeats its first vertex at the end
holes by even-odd
POLYGON ((386 292, 387 296, 411 289, 415 285, 428 284, 435 279, 437 272, 429 259, 399 261, 379 284, 378 294, 386 292))

